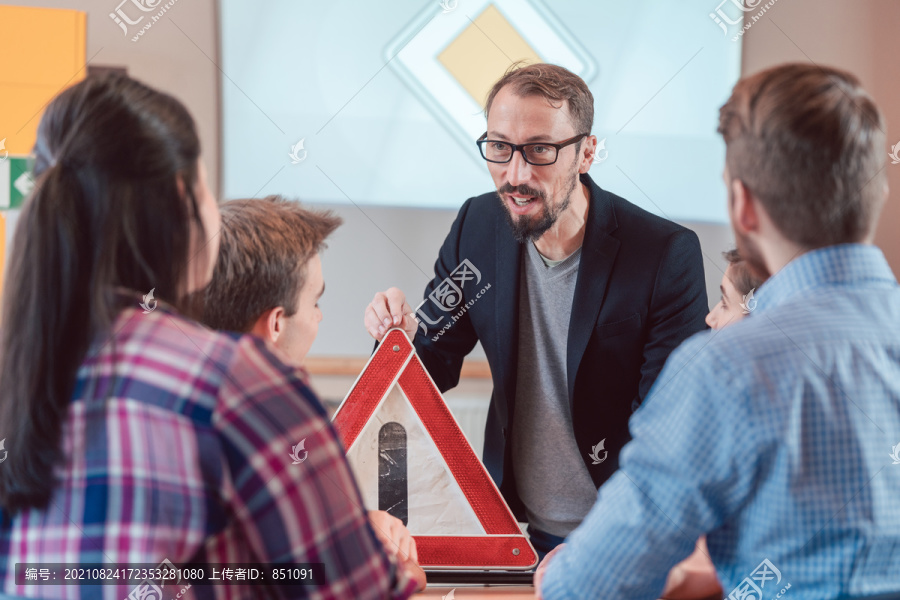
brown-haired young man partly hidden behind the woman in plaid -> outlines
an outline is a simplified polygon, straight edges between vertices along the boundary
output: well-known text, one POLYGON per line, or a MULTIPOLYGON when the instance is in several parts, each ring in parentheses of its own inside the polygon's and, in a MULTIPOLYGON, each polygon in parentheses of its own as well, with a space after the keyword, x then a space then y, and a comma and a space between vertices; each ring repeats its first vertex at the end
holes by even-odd
MULTIPOLYGON (((203 294, 201 320, 213 329, 252 333, 300 365, 319 331, 325 291, 319 252, 341 220, 280 196, 219 206, 219 258, 203 294)), ((369 511, 385 550, 417 560, 400 519, 369 511)))

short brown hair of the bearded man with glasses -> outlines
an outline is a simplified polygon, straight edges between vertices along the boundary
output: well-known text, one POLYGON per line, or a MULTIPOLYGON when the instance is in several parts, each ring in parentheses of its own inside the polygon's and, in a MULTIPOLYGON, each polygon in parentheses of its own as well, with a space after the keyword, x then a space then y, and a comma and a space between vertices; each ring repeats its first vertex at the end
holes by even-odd
POLYGON ((513 86, 517 96, 541 96, 554 108, 567 105, 575 133, 591 132, 594 126, 594 95, 584 79, 568 69, 547 63, 514 64, 491 88, 484 108, 485 116, 491 111, 494 97, 507 85, 513 86))

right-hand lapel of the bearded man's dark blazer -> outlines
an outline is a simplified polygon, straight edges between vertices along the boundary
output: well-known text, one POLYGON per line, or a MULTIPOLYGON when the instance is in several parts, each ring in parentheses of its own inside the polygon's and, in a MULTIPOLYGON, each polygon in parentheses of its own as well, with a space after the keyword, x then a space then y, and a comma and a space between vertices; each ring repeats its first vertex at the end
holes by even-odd
POLYGON ((581 181, 588 186, 591 197, 584 242, 581 246, 578 280, 572 299, 572 316, 569 319, 566 375, 570 407, 575 389, 575 375, 594 331, 600 305, 606 296, 616 253, 619 251, 619 240, 609 235, 618 226, 609 195, 587 174, 581 176, 581 181))

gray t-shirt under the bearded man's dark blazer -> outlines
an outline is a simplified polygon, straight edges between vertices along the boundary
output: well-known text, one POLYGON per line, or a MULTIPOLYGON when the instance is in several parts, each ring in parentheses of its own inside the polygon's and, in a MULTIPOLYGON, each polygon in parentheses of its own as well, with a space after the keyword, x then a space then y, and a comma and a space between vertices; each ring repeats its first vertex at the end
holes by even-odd
POLYGON ((565 537, 597 499, 597 488, 575 443, 566 376, 581 250, 548 266, 533 243, 526 246, 519 294, 513 469, 529 524, 565 537))

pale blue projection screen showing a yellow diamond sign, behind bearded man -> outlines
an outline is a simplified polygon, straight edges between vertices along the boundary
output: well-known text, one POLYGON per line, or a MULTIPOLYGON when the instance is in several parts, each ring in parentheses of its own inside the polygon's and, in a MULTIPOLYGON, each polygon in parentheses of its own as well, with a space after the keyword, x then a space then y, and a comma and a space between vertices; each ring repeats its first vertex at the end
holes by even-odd
POLYGON ((656 214, 725 222, 718 107, 740 72, 706 1, 220 5, 225 198, 457 208, 493 189, 488 90, 550 62, 594 94, 591 176, 656 214))

